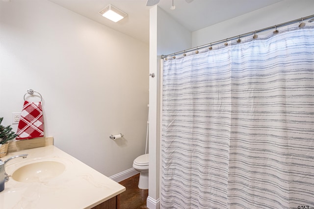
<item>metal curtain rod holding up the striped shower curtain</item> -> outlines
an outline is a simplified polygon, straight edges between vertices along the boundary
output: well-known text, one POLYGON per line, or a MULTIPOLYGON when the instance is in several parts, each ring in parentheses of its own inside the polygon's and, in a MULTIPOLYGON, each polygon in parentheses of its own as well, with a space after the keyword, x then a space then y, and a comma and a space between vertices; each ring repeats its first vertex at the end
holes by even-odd
MULTIPOLYGON (((232 41, 232 40, 235 40, 235 39, 240 39, 242 37, 253 35, 255 33, 267 31, 267 30, 274 29, 274 28, 276 29, 277 27, 288 26, 290 24, 294 24, 294 23, 297 23, 297 22, 300 22, 300 21, 301 21, 301 24, 302 24, 302 22, 304 20, 308 20, 308 19, 311 19, 311 18, 314 18, 314 15, 310 15, 310 16, 307 16, 307 17, 299 18, 299 19, 292 20, 292 21, 289 21, 289 22, 286 22, 286 23, 275 25, 275 26, 265 27, 263 29, 255 30, 255 31, 248 32, 248 33, 244 33, 244 34, 237 35, 237 36, 234 36, 234 37, 231 37, 231 38, 227 38, 227 39, 222 39, 220 41, 212 42, 210 44, 205 44, 205 45, 202 45, 202 46, 199 46, 199 47, 194 47, 194 48, 191 48, 191 49, 188 49, 188 50, 183 50, 183 51, 171 53, 171 54, 168 54, 168 55, 161 55, 161 58, 163 59, 163 58, 166 58, 167 56, 178 55, 178 54, 182 54, 182 53, 186 53, 186 52, 191 52, 191 51, 194 51, 194 50, 203 49, 205 47, 221 44, 221 43, 226 42, 226 41, 232 41)), ((311 22, 314 22, 314 20, 311 20, 311 22)), ((300 24, 300 27, 304 27, 305 26, 305 24, 302 25, 302 26, 301 26, 301 24, 300 24)))

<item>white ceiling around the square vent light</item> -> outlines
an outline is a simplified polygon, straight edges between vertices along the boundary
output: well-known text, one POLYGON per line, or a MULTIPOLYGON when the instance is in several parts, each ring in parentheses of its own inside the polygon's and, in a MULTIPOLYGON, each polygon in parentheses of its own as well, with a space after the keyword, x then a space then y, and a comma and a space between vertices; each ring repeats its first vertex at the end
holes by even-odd
MULTIPOLYGON (((50 0, 64 8, 112 29, 149 43, 149 10, 146 0, 50 0), (114 23, 98 12, 112 4, 128 13, 127 18, 114 23)), ((214 25, 282 0, 160 0, 158 6, 190 31, 214 25)))

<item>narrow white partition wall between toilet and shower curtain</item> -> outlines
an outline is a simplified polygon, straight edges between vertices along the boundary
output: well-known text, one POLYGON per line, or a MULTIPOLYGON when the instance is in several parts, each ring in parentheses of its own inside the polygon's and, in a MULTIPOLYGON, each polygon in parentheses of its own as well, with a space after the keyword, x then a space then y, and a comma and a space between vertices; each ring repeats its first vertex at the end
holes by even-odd
POLYGON ((150 56, 149 70, 155 78, 149 81, 150 130, 149 130, 149 194, 147 207, 159 207, 159 161, 160 161, 160 57, 173 50, 181 51, 191 47, 191 32, 170 18, 158 6, 150 9, 150 56))

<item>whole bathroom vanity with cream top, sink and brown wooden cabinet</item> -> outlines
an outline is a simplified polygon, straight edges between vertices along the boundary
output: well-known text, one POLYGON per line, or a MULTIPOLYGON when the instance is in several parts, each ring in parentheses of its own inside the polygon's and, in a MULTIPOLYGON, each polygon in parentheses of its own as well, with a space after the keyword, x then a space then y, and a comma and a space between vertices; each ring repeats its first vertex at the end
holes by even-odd
MULTIPOLYGON (((52 137, 51 137, 52 138, 52 137)), ((75 157, 63 152, 47 138, 40 147, 35 139, 17 141, 5 159, 9 181, 0 192, 0 209, 119 209, 124 186, 114 182, 75 157), (26 148, 26 149, 25 149, 26 148)), ((49 139, 53 140, 53 139, 49 139)))

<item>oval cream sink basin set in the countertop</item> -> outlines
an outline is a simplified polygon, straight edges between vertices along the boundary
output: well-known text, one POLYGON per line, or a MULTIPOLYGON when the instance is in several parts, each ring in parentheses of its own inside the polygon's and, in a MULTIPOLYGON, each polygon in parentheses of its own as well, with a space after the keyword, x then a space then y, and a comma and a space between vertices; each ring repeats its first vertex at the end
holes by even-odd
POLYGON ((58 161, 33 162, 14 171, 12 179, 24 183, 47 182, 61 175, 64 171, 65 165, 58 161))

